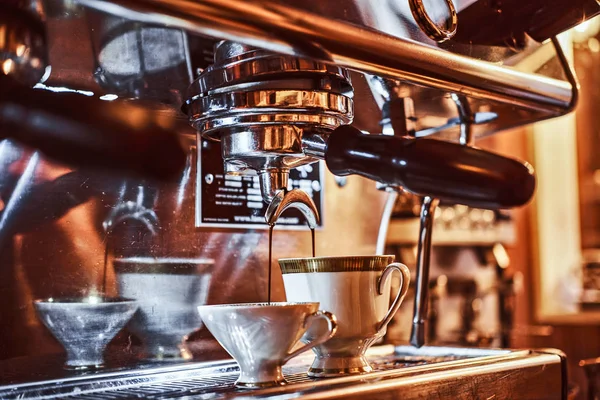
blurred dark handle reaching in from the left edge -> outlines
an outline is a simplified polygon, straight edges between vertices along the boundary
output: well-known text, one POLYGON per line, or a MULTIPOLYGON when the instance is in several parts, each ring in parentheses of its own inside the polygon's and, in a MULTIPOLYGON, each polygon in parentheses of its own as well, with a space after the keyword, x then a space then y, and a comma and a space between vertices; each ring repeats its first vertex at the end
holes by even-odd
POLYGON ((71 166, 172 179, 185 163, 174 125, 139 105, 31 89, 0 75, 2 137, 71 166))

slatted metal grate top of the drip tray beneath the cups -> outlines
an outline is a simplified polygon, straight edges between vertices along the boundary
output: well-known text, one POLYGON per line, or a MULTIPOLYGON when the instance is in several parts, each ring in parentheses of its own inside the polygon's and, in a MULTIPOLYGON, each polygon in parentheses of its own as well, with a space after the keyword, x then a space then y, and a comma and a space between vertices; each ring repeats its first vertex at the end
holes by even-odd
MULTIPOLYGON (((161 366, 105 372, 61 380, 46 380, 0 387, 0 399, 217 399, 217 398, 339 398, 357 395, 377 385, 393 387, 402 379, 423 376, 436 370, 477 367, 508 362, 530 355, 529 351, 444 349, 414 350, 382 346, 374 349, 370 361, 374 372, 331 379, 313 379, 306 375, 312 355, 292 360, 284 367, 288 385, 260 389, 237 389, 237 364, 231 360, 161 366), (403 351, 404 350, 404 351, 403 351), (453 350, 450 352, 449 350, 453 350), (423 354, 420 354, 423 353, 423 354), (426 354, 425 354, 426 353, 426 354), (343 396, 341 393, 345 393, 343 396)), ((454 378, 456 380, 456 378, 454 378)))

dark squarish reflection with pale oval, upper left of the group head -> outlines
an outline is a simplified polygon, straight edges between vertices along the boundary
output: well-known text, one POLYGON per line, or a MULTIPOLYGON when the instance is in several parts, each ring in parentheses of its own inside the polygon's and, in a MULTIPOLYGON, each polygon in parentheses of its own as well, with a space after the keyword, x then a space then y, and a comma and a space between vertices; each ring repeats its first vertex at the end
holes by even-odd
POLYGON ((101 87, 119 97, 182 104, 193 80, 187 33, 90 11, 86 19, 101 87))

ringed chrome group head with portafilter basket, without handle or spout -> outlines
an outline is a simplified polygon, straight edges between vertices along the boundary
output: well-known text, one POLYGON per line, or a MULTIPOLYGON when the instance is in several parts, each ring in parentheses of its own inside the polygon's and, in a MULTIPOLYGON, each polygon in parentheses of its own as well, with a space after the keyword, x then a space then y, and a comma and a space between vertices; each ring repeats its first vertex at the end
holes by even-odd
POLYGON ((304 135, 352 122, 349 75, 226 41, 214 54, 214 64, 191 85, 184 109, 202 136, 221 140, 226 171, 257 172, 270 202, 287 189, 290 168, 316 161, 302 151, 304 135))

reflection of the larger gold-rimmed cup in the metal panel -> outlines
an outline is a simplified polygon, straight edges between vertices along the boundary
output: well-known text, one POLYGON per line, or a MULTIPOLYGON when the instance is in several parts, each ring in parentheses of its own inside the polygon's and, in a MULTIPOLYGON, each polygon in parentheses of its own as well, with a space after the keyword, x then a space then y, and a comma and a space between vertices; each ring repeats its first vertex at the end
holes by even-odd
POLYGON ((113 264, 119 295, 138 302, 129 329, 145 357, 191 359, 185 340, 202 328, 196 308, 206 304, 214 260, 132 257, 113 264))

